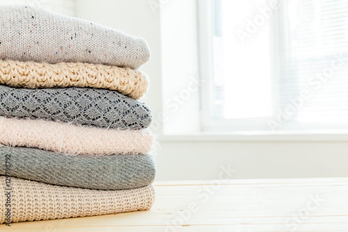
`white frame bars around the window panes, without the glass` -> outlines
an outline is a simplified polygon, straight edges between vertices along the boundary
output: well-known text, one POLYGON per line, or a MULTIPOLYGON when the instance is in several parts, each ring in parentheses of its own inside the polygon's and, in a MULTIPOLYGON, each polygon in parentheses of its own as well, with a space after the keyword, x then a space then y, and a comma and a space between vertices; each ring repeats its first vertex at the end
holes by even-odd
MULTIPOLYGON (((213 87, 213 70, 212 70, 212 0, 197 0, 198 4, 198 44, 199 44, 199 62, 200 62, 200 124, 203 132, 231 132, 231 131, 263 131, 266 133, 275 132, 269 127, 267 121, 269 118, 237 118, 237 119, 223 119, 214 118, 212 116, 212 87, 213 87)), ((287 38, 287 27, 280 26, 280 22, 283 24, 286 22, 281 17, 286 17, 285 1, 278 1, 278 9, 274 10, 270 19, 271 33, 274 33, 271 38, 271 44, 276 45, 271 50, 272 53, 272 105, 274 109, 274 115, 276 115, 276 109, 278 108, 278 93, 280 88, 278 82, 276 82, 276 67, 278 67, 278 61, 276 58, 286 57, 285 55, 289 52, 287 45, 280 47, 280 42, 288 43, 287 38), (277 30, 285 29, 282 33, 276 33, 277 30), (280 38, 283 35, 283 38, 280 38), (278 54, 277 54, 278 53, 278 54)), ((306 123, 303 125, 294 121, 288 121, 284 123, 279 129, 281 132, 288 132, 293 134, 294 132, 300 132, 301 134, 307 133, 332 133, 332 132, 347 132, 348 123, 327 123, 325 125, 320 124, 321 130, 317 130, 318 123, 306 123), (343 128, 343 130, 342 130, 343 128)))

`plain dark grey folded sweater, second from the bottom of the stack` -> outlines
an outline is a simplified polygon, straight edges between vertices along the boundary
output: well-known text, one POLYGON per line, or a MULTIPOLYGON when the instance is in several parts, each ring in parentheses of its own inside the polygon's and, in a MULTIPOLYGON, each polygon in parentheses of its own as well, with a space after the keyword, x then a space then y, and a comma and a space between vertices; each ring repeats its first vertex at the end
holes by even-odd
POLYGON ((0 175, 6 157, 14 177, 95 190, 127 190, 150 185, 155 179, 152 155, 64 155, 35 148, 0 147, 0 175))

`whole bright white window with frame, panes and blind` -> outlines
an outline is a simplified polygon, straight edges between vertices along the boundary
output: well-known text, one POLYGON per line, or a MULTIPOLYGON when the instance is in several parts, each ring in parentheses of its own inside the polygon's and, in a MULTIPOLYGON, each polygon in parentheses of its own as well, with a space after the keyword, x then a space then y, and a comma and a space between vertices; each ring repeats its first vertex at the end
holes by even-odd
POLYGON ((348 2, 198 1, 203 130, 348 129, 348 2))

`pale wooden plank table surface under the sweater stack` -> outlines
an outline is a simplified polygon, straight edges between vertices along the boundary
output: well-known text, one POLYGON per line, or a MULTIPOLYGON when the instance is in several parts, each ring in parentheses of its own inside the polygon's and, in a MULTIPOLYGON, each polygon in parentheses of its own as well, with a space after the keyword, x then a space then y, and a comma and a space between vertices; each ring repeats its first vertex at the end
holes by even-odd
POLYGON ((0 225, 0 231, 348 231, 348 178, 156 183, 150 211, 0 225))

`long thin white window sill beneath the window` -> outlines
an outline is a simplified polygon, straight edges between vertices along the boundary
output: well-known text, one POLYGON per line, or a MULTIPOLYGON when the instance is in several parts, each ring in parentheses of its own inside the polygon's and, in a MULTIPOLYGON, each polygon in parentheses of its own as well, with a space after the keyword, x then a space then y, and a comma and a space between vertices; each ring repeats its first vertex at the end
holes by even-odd
POLYGON ((289 141, 289 142, 347 142, 348 131, 331 132, 199 132, 193 134, 165 134, 159 136, 160 142, 214 142, 214 141, 289 141))

